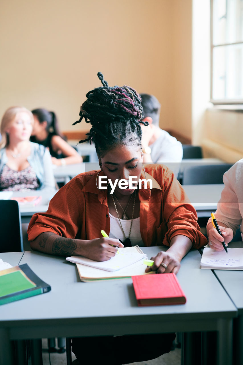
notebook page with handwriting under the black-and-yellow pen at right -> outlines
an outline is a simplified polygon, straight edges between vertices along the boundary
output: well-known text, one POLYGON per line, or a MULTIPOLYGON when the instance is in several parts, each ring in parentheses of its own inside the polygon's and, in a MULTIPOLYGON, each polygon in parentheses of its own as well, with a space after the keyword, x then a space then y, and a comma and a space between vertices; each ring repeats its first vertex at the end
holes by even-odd
POLYGON ((201 269, 243 270, 243 248, 215 251, 204 247, 201 258, 201 269))

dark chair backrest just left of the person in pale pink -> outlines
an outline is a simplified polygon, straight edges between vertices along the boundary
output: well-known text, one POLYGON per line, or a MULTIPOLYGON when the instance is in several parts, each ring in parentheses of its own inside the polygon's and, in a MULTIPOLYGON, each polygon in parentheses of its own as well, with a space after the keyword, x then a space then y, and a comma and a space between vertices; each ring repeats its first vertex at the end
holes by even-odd
POLYGON ((223 184, 223 174, 232 164, 211 164, 188 166, 183 172, 183 185, 223 184))

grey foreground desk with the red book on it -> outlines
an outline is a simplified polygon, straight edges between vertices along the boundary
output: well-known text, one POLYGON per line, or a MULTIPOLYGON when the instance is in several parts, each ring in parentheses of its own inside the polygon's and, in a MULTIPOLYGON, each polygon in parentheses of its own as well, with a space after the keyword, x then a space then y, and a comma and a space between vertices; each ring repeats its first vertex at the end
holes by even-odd
MULTIPOLYGON (((160 249, 143 247, 148 257, 160 249)), ((11 364, 12 339, 218 331, 217 364, 231 364, 237 310, 211 270, 200 270, 200 258, 190 251, 177 275, 185 305, 138 307, 131 278, 81 283, 76 265, 63 257, 26 251, 20 264, 28 263, 51 292, 1 307, 0 363, 11 364)))

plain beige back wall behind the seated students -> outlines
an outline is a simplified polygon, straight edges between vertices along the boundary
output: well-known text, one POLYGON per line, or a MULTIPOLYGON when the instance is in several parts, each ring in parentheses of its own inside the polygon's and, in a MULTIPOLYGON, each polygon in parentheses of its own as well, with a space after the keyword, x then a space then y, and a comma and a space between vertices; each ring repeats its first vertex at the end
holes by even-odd
POLYGON ((180 19, 180 2, 2 0, 0 114, 11 105, 45 107, 57 113, 62 130, 86 130, 86 123, 72 123, 86 92, 101 85, 101 71, 109 85, 157 96, 161 124, 173 128, 177 84, 171 84, 179 72, 173 72, 179 41, 173 22, 180 19))

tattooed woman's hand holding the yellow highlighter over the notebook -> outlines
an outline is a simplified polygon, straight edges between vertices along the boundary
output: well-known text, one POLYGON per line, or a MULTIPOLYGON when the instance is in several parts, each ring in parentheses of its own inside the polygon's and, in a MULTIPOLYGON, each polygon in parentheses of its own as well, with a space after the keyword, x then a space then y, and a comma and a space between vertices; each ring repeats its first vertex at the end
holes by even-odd
POLYGON ((90 258, 90 260, 107 261, 115 256, 118 247, 124 247, 124 245, 116 238, 90 239, 82 245, 81 255, 90 258))

